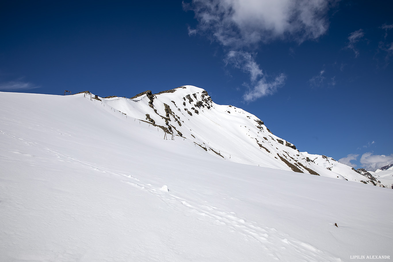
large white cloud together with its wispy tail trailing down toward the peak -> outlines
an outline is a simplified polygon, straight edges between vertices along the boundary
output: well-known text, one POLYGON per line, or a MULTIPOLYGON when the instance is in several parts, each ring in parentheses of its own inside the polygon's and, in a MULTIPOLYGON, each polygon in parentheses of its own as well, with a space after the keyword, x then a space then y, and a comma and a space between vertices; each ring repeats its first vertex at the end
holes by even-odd
POLYGON ((225 62, 250 75, 252 86, 243 96, 254 101, 285 84, 281 73, 268 80, 252 51, 272 40, 290 40, 299 44, 325 34, 327 12, 337 0, 191 0, 184 10, 194 11, 198 25, 189 35, 205 35, 229 49, 225 62))

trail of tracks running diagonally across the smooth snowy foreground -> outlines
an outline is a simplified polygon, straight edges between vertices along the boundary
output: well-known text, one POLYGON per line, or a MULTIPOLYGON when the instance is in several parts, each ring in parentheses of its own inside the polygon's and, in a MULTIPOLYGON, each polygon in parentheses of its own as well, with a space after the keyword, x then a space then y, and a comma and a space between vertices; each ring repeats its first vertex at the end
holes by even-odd
MULTIPOLYGON (((6 134, 1 130, 0 133, 6 134)), ((36 143, 28 142, 25 139, 13 136, 11 134, 6 134, 6 135, 9 135, 15 139, 22 141, 26 145, 38 146, 36 143)), ((175 209, 178 209, 179 205, 184 205, 185 207, 189 208, 192 212, 194 212, 196 216, 200 216, 199 219, 201 220, 206 220, 207 218, 212 223, 228 227, 228 230, 230 230, 231 232, 240 231, 242 234, 246 236, 248 240, 252 238, 260 242, 261 245, 263 246, 263 249, 266 251, 266 255, 270 256, 274 260, 277 261, 281 260, 280 259, 281 253, 290 253, 292 254, 291 256, 293 256, 293 254, 297 254, 298 256, 296 257, 300 256, 301 258, 304 258, 305 261, 318 261, 318 262, 342 261, 340 258, 330 257, 320 249, 317 249, 316 247, 310 244, 303 243, 301 241, 293 239, 286 233, 278 232, 274 228, 257 225, 257 223, 255 222, 248 221, 245 218, 241 218, 237 216, 237 214, 234 212, 220 210, 219 208, 208 205, 207 203, 205 203, 204 205, 198 205, 196 203, 193 203, 192 200, 186 200, 184 198, 176 196, 174 193, 171 193, 170 187, 169 187, 169 192, 165 192, 160 188, 154 187, 150 183, 141 183, 141 180, 134 176, 112 172, 106 170, 103 167, 97 167, 96 165, 93 165, 85 161, 81 161, 71 156, 67 156, 65 154, 62 154, 60 152, 57 152, 56 150, 47 147, 44 147, 43 149, 53 154, 57 158, 57 161, 66 161, 68 163, 74 163, 74 164, 76 163, 78 165, 81 165, 81 167, 83 168, 93 169, 98 172, 103 172, 108 174, 109 176, 119 176, 121 178, 127 178, 128 180, 121 180, 121 181, 123 183, 127 183, 129 185, 137 187, 140 190, 147 191, 150 194, 159 197, 164 203, 174 207, 175 209)), ((10 150, 9 152, 14 152, 16 154, 23 154, 26 156, 32 156, 30 154, 25 154, 23 152, 10 151, 10 150)))

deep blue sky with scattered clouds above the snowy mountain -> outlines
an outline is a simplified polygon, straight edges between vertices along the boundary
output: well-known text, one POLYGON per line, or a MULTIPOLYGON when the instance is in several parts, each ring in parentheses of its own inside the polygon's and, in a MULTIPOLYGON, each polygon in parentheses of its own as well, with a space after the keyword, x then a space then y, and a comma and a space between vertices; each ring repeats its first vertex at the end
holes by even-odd
POLYGON ((300 151, 393 163, 388 1, 7 2, 0 91, 132 97, 191 84, 300 151))

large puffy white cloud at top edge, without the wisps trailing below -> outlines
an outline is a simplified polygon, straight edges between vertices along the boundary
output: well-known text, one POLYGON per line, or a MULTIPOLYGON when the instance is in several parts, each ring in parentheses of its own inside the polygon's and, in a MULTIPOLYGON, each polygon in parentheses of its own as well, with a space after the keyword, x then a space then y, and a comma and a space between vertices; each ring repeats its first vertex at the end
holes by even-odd
POLYGON ((316 39, 329 27, 327 12, 336 0, 192 0, 197 29, 224 46, 240 48, 289 38, 316 39))

